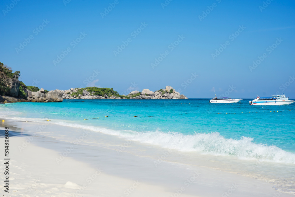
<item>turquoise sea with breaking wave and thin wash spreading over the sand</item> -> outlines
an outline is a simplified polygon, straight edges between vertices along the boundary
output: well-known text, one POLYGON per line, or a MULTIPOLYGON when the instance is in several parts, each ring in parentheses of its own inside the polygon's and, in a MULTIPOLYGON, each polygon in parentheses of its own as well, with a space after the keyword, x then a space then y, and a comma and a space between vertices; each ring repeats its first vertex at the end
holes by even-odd
MULTIPOLYGON (((157 151, 139 151, 147 149, 139 148, 140 144, 158 152, 171 149, 173 156, 165 161, 240 173, 273 183, 279 191, 295 193, 295 105, 248 103, 249 100, 210 104, 209 99, 64 100, 1 105, 0 117, 51 119, 50 124, 92 131, 91 138, 83 140, 83 144, 123 148, 155 159, 159 156, 157 151), (101 141, 99 133, 124 141, 101 141), (136 146, 130 145, 130 141, 135 141, 136 146)), ((53 132, 35 127, 32 132, 69 142, 79 136, 73 136, 70 128, 53 132)))

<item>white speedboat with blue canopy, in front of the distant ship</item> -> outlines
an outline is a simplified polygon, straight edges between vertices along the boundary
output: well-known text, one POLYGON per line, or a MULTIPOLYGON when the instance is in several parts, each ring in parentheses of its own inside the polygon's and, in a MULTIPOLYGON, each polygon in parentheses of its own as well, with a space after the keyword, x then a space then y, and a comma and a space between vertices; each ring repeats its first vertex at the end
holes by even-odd
MULTIPOLYGON (((281 96, 281 95, 278 95, 281 96)), ((249 101, 250 105, 289 105, 295 102, 294 100, 281 100, 279 97, 278 99, 273 97, 257 97, 253 101, 249 101)))

